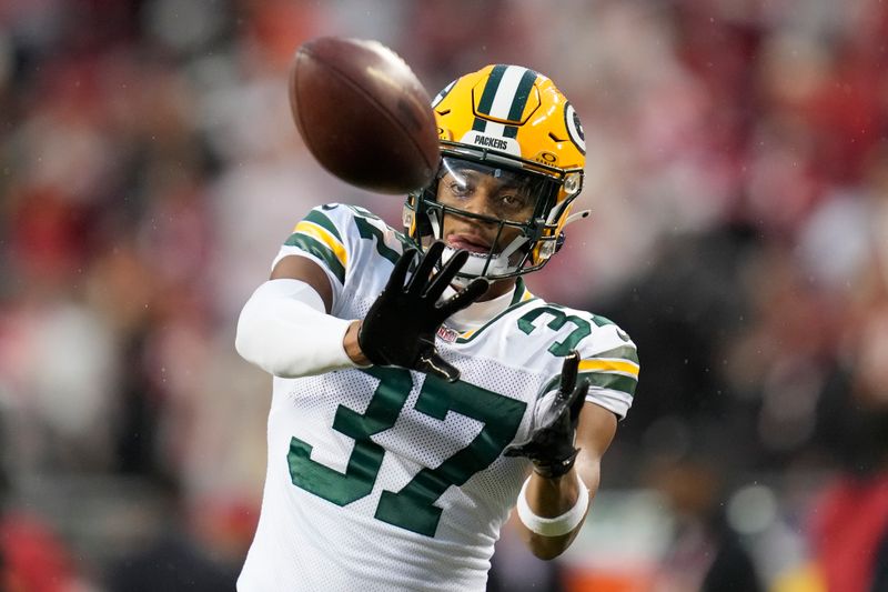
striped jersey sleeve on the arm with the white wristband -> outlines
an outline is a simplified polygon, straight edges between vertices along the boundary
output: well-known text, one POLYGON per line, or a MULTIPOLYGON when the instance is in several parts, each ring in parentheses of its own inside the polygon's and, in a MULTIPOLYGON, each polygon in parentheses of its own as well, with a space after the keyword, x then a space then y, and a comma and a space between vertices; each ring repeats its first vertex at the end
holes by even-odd
POLYGON ((619 327, 598 327, 579 348, 578 379, 586 379, 586 400, 625 419, 638 385, 638 350, 619 327))

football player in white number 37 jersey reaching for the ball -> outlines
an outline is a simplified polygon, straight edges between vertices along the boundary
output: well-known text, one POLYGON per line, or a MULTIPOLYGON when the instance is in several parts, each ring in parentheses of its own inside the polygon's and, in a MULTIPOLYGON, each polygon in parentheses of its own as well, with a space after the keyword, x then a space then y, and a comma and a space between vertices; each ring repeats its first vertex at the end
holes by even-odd
POLYGON ((638 380, 602 317, 522 275, 564 241, 585 143, 553 82, 488 66, 435 99, 442 162, 403 229, 343 204, 295 225, 243 308, 274 375, 268 472, 239 590, 484 590, 513 508, 562 553, 638 380))

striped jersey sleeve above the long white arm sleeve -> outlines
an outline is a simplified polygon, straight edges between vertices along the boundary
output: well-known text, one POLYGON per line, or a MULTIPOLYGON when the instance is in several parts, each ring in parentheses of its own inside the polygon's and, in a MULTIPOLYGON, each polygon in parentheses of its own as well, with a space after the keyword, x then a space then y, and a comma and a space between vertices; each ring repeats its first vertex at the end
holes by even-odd
POLYGON ((317 263, 330 279, 333 302, 340 299, 345 284, 353 244, 347 230, 352 225, 352 212, 336 203, 313 208, 293 227, 290 237, 281 245, 272 261, 272 268, 289 255, 305 257, 317 263))

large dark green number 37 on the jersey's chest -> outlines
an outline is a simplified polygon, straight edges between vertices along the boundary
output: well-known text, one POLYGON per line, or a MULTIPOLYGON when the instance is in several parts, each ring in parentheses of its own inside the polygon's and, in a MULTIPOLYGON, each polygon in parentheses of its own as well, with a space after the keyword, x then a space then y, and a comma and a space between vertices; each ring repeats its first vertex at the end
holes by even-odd
MULTIPOLYGON (((408 370, 369 368, 364 372, 380 380, 366 411, 340 405, 333 429, 354 439, 354 449, 342 473, 311 459, 311 444, 292 438, 286 455, 293 484, 337 505, 346 505, 373 491, 385 449, 371 437, 395 424, 413 389, 408 370)), ((377 520, 426 536, 434 536, 441 508, 434 502, 451 485, 462 485, 486 469, 503 452, 518 430, 526 404, 465 382, 447 383, 426 375, 414 409, 444 420, 448 411, 484 423, 468 445, 435 469, 424 468, 401 491, 383 491, 376 505, 377 520)))

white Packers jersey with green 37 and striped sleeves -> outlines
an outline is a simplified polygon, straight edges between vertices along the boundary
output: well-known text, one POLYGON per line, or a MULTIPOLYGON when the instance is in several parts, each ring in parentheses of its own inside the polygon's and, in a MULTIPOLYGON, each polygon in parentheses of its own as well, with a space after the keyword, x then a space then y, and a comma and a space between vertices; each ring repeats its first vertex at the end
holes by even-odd
MULTIPOLYGON (((275 262, 314 260, 333 285, 331 313, 361 319, 405 243, 366 210, 324 205, 275 262)), ((485 589, 529 470, 503 449, 527 438, 563 357, 579 351, 587 400, 620 418, 638 358, 610 321, 544 302, 521 280, 486 322, 464 329, 445 323, 436 343, 461 371, 455 383, 377 367, 274 379, 262 513, 238 590, 485 589)))

